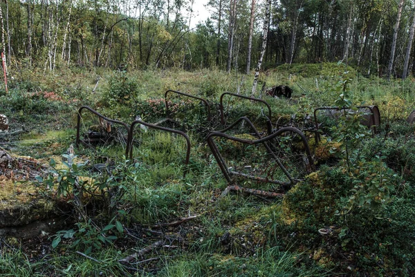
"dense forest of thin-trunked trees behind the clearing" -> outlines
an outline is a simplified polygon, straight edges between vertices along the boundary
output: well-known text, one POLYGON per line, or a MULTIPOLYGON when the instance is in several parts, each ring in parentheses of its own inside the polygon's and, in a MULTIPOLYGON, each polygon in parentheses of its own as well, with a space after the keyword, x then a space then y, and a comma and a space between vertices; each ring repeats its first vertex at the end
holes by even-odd
MULTIPOLYGON (((35 64, 186 70, 342 60, 365 75, 406 77, 415 68, 413 1, 210 0, 196 27, 194 0, 2 1, 9 66, 35 64)), ((6 64, 6 65, 7 65, 6 64)), ((248 67, 248 68, 247 68, 248 67)))

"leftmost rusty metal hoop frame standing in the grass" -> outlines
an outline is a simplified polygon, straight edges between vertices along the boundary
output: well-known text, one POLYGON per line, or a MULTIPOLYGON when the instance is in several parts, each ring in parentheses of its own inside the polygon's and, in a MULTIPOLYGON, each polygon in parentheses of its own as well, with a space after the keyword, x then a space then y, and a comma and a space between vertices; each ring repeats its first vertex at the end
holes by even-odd
POLYGON ((118 120, 112 120, 111 118, 101 115, 100 113, 93 110, 89 106, 82 106, 78 110, 78 113, 77 113, 76 146, 79 146, 79 144, 82 143, 85 146, 91 147, 95 144, 100 144, 100 142, 107 142, 107 140, 111 140, 113 138, 111 137, 111 135, 109 136, 109 133, 111 133, 111 123, 121 125, 127 131, 127 139, 123 138, 126 141, 125 156, 127 157, 129 153, 128 137, 130 134, 130 127, 124 122, 120 122, 118 120), (100 120, 100 128, 102 128, 102 130, 100 131, 89 130, 86 134, 84 134, 84 140, 81 140, 80 139, 80 128, 81 128, 81 120, 82 120, 82 111, 85 111, 85 110, 89 111, 90 113, 98 117, 98 119, 100 120))

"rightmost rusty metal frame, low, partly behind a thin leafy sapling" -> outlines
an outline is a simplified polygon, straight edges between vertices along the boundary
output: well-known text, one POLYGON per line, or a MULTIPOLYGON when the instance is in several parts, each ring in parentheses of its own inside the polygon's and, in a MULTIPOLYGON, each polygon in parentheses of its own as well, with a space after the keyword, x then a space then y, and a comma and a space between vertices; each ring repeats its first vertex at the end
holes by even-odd
MULTIPOLYGON (((380 126, 380 112, 378 106, 356 106, 359 112, 364 113, 362 121, 360 122, 362 125, 371 128, 372 132, 376 133, 376 128, 380 126), (366 112, 365 112, 366 111, 366 112)), ((317 113, 319 111, 326 111, 326 115, 329 115, 335 119, 340 117, 340 111, 347 111, 348 113, 352 112, 351 108, 338 108, 338 107, 320 107, 314 110, 314 122, 315 128, 318 130, 320 124, 317 120, 317 113)))

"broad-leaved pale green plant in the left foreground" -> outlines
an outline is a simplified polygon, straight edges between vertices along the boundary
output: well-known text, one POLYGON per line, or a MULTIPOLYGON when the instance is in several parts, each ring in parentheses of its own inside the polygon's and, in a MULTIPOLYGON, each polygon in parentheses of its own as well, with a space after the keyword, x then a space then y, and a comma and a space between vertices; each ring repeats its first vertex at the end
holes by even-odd
POLYGON ((63 196, 74 207, 78 220, 75 229, 59 231, 55 235, 52 247, 59 245, 62 238, 75 239, 71 247, 80 247, 91 253, 93 249, 101 249, 102 244, 111 243, 118 237, 115 233, 124 231, 122 224, 117 218, 124 215, 124 211, 117 211, 116 215, 110 220, 109 224, 100 227, 86 210, 86 205, 94 201, 94 198, 109 198, 106 202, 109 206, 108 211, 113 211, 117 201, 120 200, 127 188, 119 184, 114 176, 104 176, 104 180, 94 180, 89 178, 84 167, 88 162, 75 162, 77 155, 74 154, 73 146, 68 149, 68 153, 62 155, 66 161, 63 169, 56 168, 55 160, 50 160, 50 174, 46 179, 37 176, 39 186, 43 186, 46 191, 50 191, 57 184, 57 197, 63 196), (95 191, 101 191, 96 195, 95 191), (88 197, 86 195, 89 195, 88 197))

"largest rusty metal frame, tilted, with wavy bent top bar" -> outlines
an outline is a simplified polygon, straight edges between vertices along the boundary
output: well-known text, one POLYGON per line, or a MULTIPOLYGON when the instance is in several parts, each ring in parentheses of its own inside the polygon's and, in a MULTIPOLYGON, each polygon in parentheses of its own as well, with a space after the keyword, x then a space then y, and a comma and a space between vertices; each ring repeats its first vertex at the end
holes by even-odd
POLYGON ((255 128, 255 126, 252 124, 252 122, 250 122, 250 120, 246 117, 241 117, 241 118, 239 118, 239 120, 234 122, 228 128, 225 128, 222 131, 216 131, 216 132, 210 133, 207 137, 207 140, 208 140, 208 146, 210 147, 210 149, 211 149, 211 151, 212 151, 212 153, 215 157, 216 162, 219 164, 219 167, 220 167, 220 169, 223 173, 223 176, 225 177, 225 179, 228 181, 228 183, 230 185, 234 185, 234 180, 233 180, 232 176, 238 176, 240 178, 245 178, 245 179, 248 179, 248 180, 255 180, 255 181, 258 181, 258 182, 279 184, 284 189, 289 189, 290 187, 293 186, 293 184, 298 182, 300 179, 297 178, 298 176, 294 177, 293 175, 291 175, 291 173, 288 172, 288 169, 286 168, 286 166, 284 166, 284 164, 280 160, 279 146, 277 144, 273 143, 273 141, 275 141, 275 139, 278 136, 284 135, 284 133, 286 133, 286 132, 295 133, 299 136, 300 141, 304 146, 305 155, 303 155, 303 157, 302 157, 302 162, 304 162, 304 164, 306 164, 304 169, 307 173, 313 171, 314 170, 313 157, 311 156, 311 151, 310 151, 310 148, 308 147, 306 137, 297 128, 284 127, 284 128, 281 128, 281 129, 277 130, 275 133, 272 133, 272 134, 270 134, 266 137, 261 137, 261 135, 259 134, 259 132, 255 128), (243 139, 243 138, 240 138, 240 137, 235 137, 235 136, 232 136, 232 135, 228 135, 228 134, 225 133, 226 131, 229 131, 231 128, 233 128, 237 124, 240 124, 241 122, 246 122, 250 126, 250 128, 252 128, 252 130, 255 133, 255 136, 258 137, 257 140, 247 140, 247 139, 243 139), (279 169, 281 169, 281 171, 284 173, 286 178, 288 178, 288 182, 287 181, 282 181, 282 180, 277 180, 277 179, 273 178, 273 175, 270 175, 269 173, 267 173, 266 177, 263 177, 263 176, 260 176, 260 175, 254 175, 254 174, 243 173, 243 172, 240 172, 240 171, 232 170, 232 166, 228 166, 228 164, 225 162, 225 159, 223 158, 223 155, 221 154, 221 151, 219 150, 219 147, 218 147, 218 145, 216 144, 216 142, 214 140, 215 138, 223 138, 224 140, 230 140, 231 142, 232 141, 233 142, 239 142, 241 144, 246 144, 246 145, 257 145, 257 144, 263 145, 266 149, 266 155, 269 157, 269 160, 273 160, 273 162, 275 163, 275 165, 269 166, 269 169, 273 170, 273 169, 277 169, 277 167, 279 167, 279 169))

